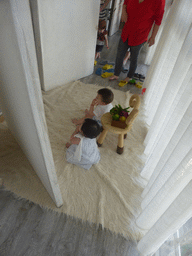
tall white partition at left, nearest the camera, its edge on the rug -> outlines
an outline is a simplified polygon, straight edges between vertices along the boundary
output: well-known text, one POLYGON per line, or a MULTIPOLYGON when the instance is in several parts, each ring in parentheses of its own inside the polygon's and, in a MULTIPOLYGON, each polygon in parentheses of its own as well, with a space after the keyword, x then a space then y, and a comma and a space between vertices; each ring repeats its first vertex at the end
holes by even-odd
POLYGON ((27 0, 0 1, 0 104, 8 126, 53 201, 62 205, 27 0))

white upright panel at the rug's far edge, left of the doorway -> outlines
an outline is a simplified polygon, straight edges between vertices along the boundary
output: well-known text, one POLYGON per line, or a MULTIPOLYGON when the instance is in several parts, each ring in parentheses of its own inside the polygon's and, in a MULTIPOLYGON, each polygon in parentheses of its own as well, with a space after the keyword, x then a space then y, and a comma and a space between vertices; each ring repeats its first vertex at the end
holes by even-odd
POLYGON ((42 89, 92 74, 100 0, 30 2, 33 17, 38 16, 39 21, 34 27, 38 51, 41 49, 42 89))

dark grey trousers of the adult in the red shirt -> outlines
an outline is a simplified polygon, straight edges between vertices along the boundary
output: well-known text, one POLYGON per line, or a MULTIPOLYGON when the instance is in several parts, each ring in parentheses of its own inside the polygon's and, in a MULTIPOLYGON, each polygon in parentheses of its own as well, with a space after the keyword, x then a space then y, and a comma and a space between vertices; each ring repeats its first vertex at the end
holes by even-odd
POLYGON ((120 38, 119 45, 117 48, 117 57, 116 57, 116 61, 115 61, 115 71, 114 71, 115 76, 120 75, 121 69, 123 66, 123 59, 124 59, 125 54, 129 48, 130 48, 130 52, 131 52, 131 59, 130 59, 130 67, 129 67, 129 72, 127 74, 127 77, 132 78, 134 76, 136 68, 137 68, 137 60, 138 60, 138 56, 139 56, 139 51, 141 50, 141 47, 144 45, 144 43, 137 45, 137 46, 129 46, 128 39, 125 42, 123 42, 123 40, 120 38))

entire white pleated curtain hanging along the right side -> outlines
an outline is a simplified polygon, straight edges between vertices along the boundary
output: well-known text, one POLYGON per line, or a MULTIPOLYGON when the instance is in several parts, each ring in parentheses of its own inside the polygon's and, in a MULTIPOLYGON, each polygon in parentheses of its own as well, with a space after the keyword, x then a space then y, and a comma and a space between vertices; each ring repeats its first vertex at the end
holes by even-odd
POLYGON ((148 180, 137 225, 151 255, 192 217, 192 1, 174 0, 145 79, 148 180))

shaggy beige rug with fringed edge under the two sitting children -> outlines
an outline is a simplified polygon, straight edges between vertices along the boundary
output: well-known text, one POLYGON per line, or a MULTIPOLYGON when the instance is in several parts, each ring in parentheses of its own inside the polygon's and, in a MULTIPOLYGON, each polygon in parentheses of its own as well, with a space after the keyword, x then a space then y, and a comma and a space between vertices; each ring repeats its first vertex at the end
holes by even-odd
MULTIPOLYGON (((139 239, 135 217, 140 211, 144 181, 139 173, 147 129, 143 107, 125 140, 122 155, 116 153, 117 135, 108 134, 100 148, 101 160, 89 171, 66 162, 65 143, 75 129, 71 118, 84 115, 100 86, 79 81, 44 93, 43 100, 49 137, 64 201, 56 208, 31 168, 6 122, 0 124, 0 178, 5 187, 22 198, 48 209, 64 212, 83 221, 102 224, 112 232, 139 239)), ((111 89, 111 88, 110 88, 111 89)), ((112 89, 113 105, 129 105, 129 92, 112 89)))

